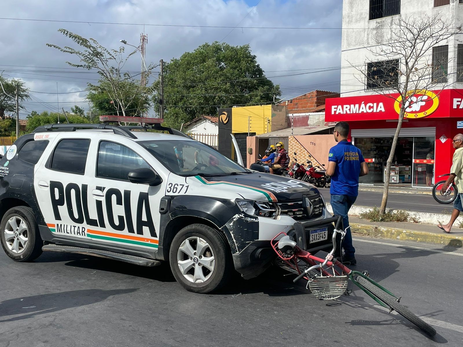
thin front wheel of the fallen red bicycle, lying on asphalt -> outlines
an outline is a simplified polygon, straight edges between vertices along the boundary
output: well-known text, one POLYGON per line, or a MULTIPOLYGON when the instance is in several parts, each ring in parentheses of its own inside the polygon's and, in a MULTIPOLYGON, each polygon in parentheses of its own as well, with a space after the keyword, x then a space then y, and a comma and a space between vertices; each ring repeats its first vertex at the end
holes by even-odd
POLYGON ((362 276, 357 276, 357 282, 360 283, 365 289, 370 291, 375 297, 380 299, 384 304, 389 306, 391 309, 399 313, 401 316, 407 318, 410 322, 415 324, 418 328, 423 330, 429 336, 436 335, 436 330, 432 328, 431 325, 423 321, 421 318, 416 316, 413 312, 403 307, 397 301, 394 300, 386 292, 382 291, 380 288, 372 284, 368 279, 364 279, 362 276))

